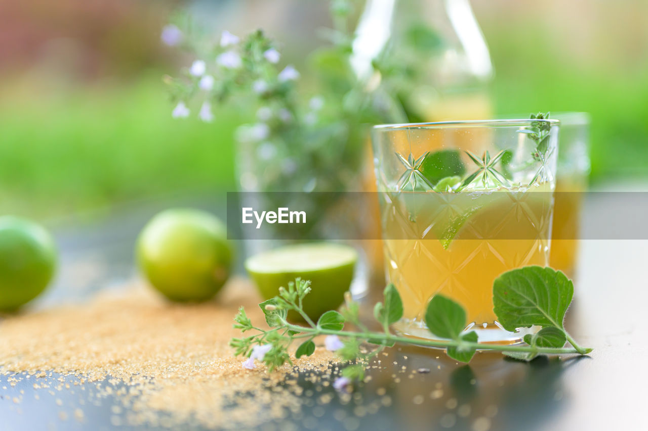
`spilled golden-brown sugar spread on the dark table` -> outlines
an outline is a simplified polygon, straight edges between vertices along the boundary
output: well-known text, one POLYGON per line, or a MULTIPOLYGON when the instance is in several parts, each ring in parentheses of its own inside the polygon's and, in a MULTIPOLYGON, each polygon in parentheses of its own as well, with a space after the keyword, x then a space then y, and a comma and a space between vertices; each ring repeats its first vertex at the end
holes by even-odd
MULTIPOLYGON (((216 300, 193 305, 171 304, 132 283, 99 293, 88 304, 3 320, 0 373, 48 374, 49 384, 52 372, 74 375, 73 387, 87 388, 97 400, 117 397, 125 414, 113 419, 129 425, 237 428, 281 420, 301 406, 297 372, 286 364, 267 373, 259 362, 246 370, 228 345, 231 337, 240 337, 232 327, 240 305, 255 324, 264 322, 258 302, 243 279, 231 280, 216 300)), ((321 384, 332 378, 334 360, 333 353, 318 347, 294 363, 299 370, 322 371, 321 384)), ((58 390, 69 387, 61 383, 58 390)), ((84 417, 82 410, 74 416, 84 417)))

